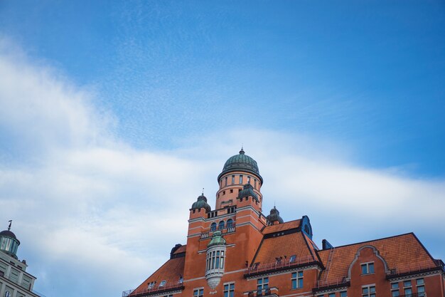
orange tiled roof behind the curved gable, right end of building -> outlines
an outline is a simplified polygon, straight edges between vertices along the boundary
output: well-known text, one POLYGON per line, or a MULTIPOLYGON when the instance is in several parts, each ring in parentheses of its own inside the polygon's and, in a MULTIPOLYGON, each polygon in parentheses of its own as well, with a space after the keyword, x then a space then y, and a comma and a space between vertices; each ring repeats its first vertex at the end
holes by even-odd
MULTIPOLYGON (((390 270, 403 271, 410 268, 413 270, 415 267, 436 266, 434 259, 431 258, 419 239, 414 233, 409 233, 336 247, 333 251, 331 264, 328 265, 329 271, 323 271, 321 279, 336 281, 348 277, 349 266, 353 262, 358 249, 362 246, 374 246, 379 251, 380 256, 385 259, 390 270)), ((330 252, 331 249, 318 251, 325 267, 330 252)))

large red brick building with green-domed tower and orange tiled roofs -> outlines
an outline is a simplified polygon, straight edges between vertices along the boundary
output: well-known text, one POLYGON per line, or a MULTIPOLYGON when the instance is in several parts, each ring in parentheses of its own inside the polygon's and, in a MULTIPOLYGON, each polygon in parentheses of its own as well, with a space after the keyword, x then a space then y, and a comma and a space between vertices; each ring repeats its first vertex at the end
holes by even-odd
POLYGON ((263 214, 263 179, 243 150, 218 183, 215 210, 203 194, 193 203, 187 244, 123 296, 445 296, 444 263, 413 233, 320 249, 309 217, 263 214))

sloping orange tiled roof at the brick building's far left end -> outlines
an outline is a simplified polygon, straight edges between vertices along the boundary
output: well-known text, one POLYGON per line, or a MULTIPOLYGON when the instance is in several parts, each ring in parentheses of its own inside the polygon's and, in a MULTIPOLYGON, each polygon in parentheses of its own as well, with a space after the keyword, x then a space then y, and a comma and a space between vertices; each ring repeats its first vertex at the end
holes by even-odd
MULTIPOLYGON (((179 249, 185 248, 181 246, 179 249)), ((178 249, 178 250, 179 250, 178 249)), ((177 252, 177 251, 176 251, 177 252)), ((139 287, 137 287, 130 296, 134 296, 138 293, 146 291, 148 284, 152 281, 156 281, 154 289, 157 289, 161 281, 167 281, 166 286, 171 286, 178 284, 179 279, 184 274, 184 263, 186 262, 186 257, 178 257, 169 259, 166 261, 161 268, 156 270, 149 278, 147 278, 139 287)))

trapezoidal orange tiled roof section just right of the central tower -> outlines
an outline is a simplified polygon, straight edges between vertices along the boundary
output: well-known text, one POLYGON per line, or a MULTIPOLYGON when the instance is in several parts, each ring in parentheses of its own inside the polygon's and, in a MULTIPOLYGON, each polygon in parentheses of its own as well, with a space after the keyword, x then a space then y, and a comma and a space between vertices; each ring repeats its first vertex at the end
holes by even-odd
POLYGON ((252 264, 270 264, 280 257, 289 261, 291 256, 296 256, 296 259, 304 259, 304 261, 314 261, 316 259, 316 254, 311 253, 302 232, 264 238, 252 264))

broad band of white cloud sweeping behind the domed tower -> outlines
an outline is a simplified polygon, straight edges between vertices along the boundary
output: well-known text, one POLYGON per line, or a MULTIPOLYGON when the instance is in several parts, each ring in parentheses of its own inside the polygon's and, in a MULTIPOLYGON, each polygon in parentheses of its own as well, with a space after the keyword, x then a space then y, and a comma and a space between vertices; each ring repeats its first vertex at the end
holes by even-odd
POLYGON ((213 205, 216 177, 241 143, 259 162, 264 212, 276 201, 285 219, 309 214, 316 234, 350 239, 376 221, 402 232, 445 228, 430 215, 445 207, 443 181, 352 165, 347 148, 308 135, 231 130, 169 152, 136 150, 114 139, 114 117, 95 106, 94 93, 0 45, 0 131, 9 131, 14 150, 38 158, 0 158, 1 220, 14 219, 19 256, 48 297, 116 296, 137 286, 186 242, 201 187, 213 205), (66 291, 67 279, 78 291, 66 291))

